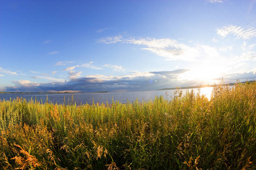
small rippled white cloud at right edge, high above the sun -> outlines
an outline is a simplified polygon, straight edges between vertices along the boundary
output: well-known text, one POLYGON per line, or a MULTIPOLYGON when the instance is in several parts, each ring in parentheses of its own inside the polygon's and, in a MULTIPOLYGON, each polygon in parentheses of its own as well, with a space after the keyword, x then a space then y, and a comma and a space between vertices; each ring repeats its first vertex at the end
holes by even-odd
POLYGON ((228 25, 222 28, 217 28, 217 34, 226 37, 228 35, 237 36, 237 39, 251 39, 252 37, 256 37, 256 29, 249 28, 244 29, 242 27, 237 27, 235 25, 228 25))

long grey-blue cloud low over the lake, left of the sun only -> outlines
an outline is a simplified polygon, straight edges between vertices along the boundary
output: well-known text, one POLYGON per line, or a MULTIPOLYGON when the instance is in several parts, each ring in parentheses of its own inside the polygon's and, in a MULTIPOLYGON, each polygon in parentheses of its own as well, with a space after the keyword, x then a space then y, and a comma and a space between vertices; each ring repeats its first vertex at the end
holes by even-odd
MULTIPOLYGON (((185 70, 150 72, 134 72, 122 76, 88 75, 81 76, 81 71, 69 71, 68 81, 54 83, 31 83, 28 80, 14 81, 13 87, 6 91, 48 92, 75 90, 81 92, 96 91, 142 91, 159 88, 176 87, 179 74, 185 70), (163 76, 164 74, 164 76, 163 76)), ((188 85, 188 84, 186 84, 188 85)))

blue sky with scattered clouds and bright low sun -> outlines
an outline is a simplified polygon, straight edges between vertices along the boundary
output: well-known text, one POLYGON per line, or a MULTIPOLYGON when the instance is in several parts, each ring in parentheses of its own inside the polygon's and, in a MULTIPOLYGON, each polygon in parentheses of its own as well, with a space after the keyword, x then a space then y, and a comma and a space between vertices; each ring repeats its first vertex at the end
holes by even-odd
POLYGON ((0 91, 256 79, 256 0, 0 0, 0 91))

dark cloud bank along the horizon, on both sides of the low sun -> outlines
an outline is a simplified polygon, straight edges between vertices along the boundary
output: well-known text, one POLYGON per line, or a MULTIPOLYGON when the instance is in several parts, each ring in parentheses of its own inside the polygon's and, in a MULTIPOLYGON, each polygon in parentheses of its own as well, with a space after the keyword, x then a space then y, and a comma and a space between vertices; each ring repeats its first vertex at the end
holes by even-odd
MULTIPOLYGON (((7 86, 6 92, 53 92, 53 91, 80 91, 80 92, 118 92, 118 91, 147 91, 160 88, 184 87, 200 85, 201 82, 179 80, 179 74, 188 70, 174 71, 152 71, 147 74, 136 76, 123 76, 122 78, 101 79, 101 78, 72 78, 66 82, 52 83, 19 83, 15 86, 7 86)), ((254 80, 256 74, 253 72, 243 74, 226 75, 227 83, 236 82, 237 79, 254 80)), ((222 79, 222 78, 220 78, 222 79)), ((220 80, 218 79, 218 80, 220 80)))

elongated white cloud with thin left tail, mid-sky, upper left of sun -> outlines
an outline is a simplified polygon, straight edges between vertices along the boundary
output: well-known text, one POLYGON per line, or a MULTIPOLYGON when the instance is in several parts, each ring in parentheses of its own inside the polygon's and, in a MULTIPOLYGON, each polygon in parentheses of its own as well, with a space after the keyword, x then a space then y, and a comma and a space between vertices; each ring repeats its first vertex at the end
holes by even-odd
POLYGON ((143 50, 148 50, 155 53, 158 56, 164 57, 167 60, 184 60, 193 61, 194 58, 198 57, 199 53, 196 48, 191 48, 188 45, 177 42, 172 39, 154 39, 147 37, 134 38, 134 37, 123 37, 123 36, 113 36, 105 37, 98 42, 105 44, 114 44, 117 42, 122 42, 123 44, 135 44, 145 46, 141 48, 143 50))

